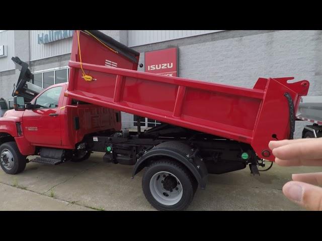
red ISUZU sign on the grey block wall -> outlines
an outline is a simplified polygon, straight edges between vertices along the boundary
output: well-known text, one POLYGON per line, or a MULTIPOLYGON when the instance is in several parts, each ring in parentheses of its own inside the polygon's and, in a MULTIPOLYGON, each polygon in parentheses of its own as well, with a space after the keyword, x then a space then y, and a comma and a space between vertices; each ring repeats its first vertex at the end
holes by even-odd
POLYGON ((178 77, 178 49, 145 52, 145 72, 178 77))

